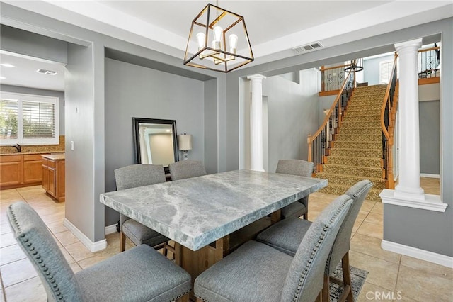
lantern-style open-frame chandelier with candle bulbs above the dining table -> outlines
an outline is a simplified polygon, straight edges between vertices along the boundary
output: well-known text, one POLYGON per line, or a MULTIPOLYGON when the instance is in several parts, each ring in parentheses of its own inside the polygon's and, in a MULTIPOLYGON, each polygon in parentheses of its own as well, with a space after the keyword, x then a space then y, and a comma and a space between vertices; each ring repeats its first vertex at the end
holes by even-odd
POLYGON ((231 72, 252 61, 243 16, 207 4, 192 21, 184 65, 231 72))

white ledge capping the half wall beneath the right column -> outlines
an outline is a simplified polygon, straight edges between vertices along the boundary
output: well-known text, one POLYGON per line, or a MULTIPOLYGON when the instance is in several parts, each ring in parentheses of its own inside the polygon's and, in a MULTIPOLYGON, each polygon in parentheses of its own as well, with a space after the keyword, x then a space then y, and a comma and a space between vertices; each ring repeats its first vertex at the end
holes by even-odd
POLYGON ((395 206, 406 206, 408 208, 420 208, 422 210, 436 211, 436 212, 445 212, 447 208, 447 203, 442 203, 439 195, 425 194, 424 201, 415 201, 397 198, 394 196, 394 191, 391 189, 382 190, 379 197, 382 199, 382 203, 393 204, 395 206))

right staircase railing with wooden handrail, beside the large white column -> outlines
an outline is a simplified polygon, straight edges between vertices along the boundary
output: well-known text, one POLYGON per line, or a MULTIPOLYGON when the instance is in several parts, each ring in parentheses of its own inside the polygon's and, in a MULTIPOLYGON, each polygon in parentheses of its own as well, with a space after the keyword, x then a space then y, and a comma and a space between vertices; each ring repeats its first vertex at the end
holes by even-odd
POLYGON ((386 188, 394 189, 393 172, 393 146, 394 130, 396 121, 396 109, 398 108, 398 96, 396 89, 398 84, 396 61, 398 55, 395 52, 394 67, 391 70, 390 81, 387 85, 384 101, 381 108, 381 128, 382 128, 382 160, 384 163, 384 178, 386 188))

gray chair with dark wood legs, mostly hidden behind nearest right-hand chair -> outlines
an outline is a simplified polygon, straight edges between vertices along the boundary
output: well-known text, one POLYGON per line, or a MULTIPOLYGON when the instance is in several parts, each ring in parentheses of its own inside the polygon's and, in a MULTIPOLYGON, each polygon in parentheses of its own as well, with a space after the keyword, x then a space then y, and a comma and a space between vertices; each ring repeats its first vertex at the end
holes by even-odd
MULTIPOLYGON (((338 236, 333 244, 330 255, 328 256, 325 272, 325 280, 323 287, 324 301, 328 301, 328 288, 330 279, 328 276, 335 270, 336 265, 341 262, 343 269, 343 285, 345 290, 338 301, 344 301, 347 296, 348 301, 353 301, 351 291, 350 267, 349 267, 349 249, 350 237, 357 215, 362 207, 363 201, 372 187, 372 182, 365 179, 351 186, 346 195, 352 198, 352 206, 346 216, 343 225, 341 225, 338 236)), ((271 225, 263 232, 259 233, 256 240, 263 242, 277 250, 295 255, 299 248, 299 243, 304 239, 307 230, 310 228, 311 222, 299 218, 288 218, 282 220, 275 225, 271 225)), ((337 280, 338 281, 338 280, 337 280)))

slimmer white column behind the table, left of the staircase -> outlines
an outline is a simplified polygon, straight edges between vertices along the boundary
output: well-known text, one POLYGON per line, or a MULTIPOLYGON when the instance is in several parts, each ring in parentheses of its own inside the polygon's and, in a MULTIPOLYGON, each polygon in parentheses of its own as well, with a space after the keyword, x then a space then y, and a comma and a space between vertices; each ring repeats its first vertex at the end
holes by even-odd
POLYGON ((251 144, 250 144, 250 169, 264 171, 263 169, 263 79, 261 74, 248 76, 251 80, 251 144))

